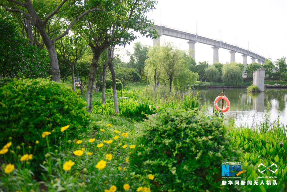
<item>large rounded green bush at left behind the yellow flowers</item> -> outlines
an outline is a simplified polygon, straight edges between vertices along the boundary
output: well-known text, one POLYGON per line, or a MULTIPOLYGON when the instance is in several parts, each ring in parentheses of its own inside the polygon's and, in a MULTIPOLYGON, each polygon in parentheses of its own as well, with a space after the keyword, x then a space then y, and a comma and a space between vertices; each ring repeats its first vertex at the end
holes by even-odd
MULTIPOLYGON (((49 79, 19 79, 0 88, 0 146, 12 136, 13 145, 34 146, 39 140, 38 153, 47 153, 42 132, 49 131, 51 145, 65 141, 61 127, 70 125, 69 139, 80 138, 88 130, 90 115, 86 102, 60 83, 49 79)), ((44 157, 39 155, 43 161, 44 157)))

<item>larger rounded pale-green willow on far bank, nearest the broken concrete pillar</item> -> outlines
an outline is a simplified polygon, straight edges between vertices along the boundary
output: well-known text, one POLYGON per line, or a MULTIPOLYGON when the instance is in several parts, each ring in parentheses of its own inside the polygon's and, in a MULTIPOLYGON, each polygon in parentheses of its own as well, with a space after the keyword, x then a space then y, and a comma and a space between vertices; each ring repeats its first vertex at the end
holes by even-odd
POLYGON ((241 69, 234 63, 227 63, 222 67, 223 83, 233 83, 235 86, 242 82, 241 69))

